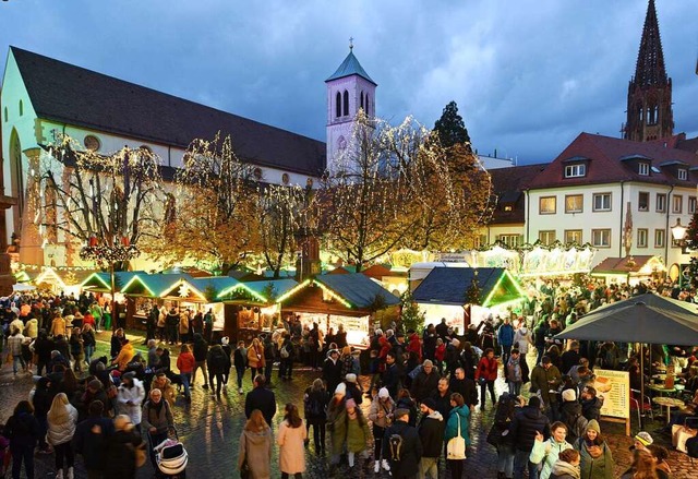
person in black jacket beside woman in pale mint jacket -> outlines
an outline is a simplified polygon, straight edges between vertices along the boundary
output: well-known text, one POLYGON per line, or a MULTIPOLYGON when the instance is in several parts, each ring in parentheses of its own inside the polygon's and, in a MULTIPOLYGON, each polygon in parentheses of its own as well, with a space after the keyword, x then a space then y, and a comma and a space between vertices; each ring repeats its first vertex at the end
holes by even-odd
POLYGON ((532 396, 528 400, 528 406, 514 416, 509 427, 509 434, 516 444, 514 479, 524 479, 524 470, 527 466, 529 479, 538 479, 538 465, 528 458, 539 432, 545 438, 550 436, 550 420, 541 412, 541 399, 538 396, 532 396))

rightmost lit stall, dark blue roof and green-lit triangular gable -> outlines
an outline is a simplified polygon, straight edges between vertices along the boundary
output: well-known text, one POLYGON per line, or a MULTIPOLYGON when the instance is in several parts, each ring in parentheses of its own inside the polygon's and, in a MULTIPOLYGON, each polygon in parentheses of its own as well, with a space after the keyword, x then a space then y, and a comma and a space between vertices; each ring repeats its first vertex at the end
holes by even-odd
POLYGON ((488 316, 508 313, 526 298, 518 280, 503 267, 435 267, 412 292, 425 325, 446 323, 466 331, 488 316))

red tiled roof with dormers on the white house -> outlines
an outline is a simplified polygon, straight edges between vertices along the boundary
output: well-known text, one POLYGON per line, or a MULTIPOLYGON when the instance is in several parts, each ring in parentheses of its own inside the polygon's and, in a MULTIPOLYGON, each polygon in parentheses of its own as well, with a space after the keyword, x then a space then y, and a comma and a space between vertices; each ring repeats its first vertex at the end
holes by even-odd
POLYGON ((698 155, 693 152, 664 147, 663 143, 640 143, 629 140, 614 139, 590 133, 580 133, 545 170, 529 184, 532 190, 553 187, 567 187, 592 183, 611 183, 617 181, 640 181, 663 184, 682 184, 693 187, 698 181, 698 173, 690 171, 686 181, 677 180, 673 175, 660 168, 660 172, 650 171, 649 176, 640 176, 630 165, 621 158, 642 155, 652 159, 652 167, 660 167, 664 161, 684 161, 689 168, 698 167, 698 155), (565 160, 573 157, 589 158, 587 176, 581 178, 564 178, 565 160))

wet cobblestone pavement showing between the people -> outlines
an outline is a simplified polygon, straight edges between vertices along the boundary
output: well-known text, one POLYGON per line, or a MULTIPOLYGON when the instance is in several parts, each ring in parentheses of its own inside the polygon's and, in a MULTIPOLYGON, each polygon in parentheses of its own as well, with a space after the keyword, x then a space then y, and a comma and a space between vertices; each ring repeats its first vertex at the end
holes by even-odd
MULTIPOLYGON (((274 374, 274 393, 277 397, 278 408, 282 410, 286 403, 296 403, 302 407, 302 395, 304 388, 310 385, 314 378, 318 375, 317 372, 310 370, 299 370, 294 372, 292 381, 277 380, 278 372, 275 369, 274 374)), ((191 404, 185 404, 183 397, 180 396, 177 399, 174 407, 174 421, 179 430, 180 440, 184 443, 189 453, 189 466, 186 468, 186 475, 190 478, 237 478, 238 464, 238 439, 240 436, 241 428, 244 424, 244 394, 239 394, 234 387, 234 383, 231 378, 230 386, 222 394, 221 400, 216 400, 208 391, 201 387, 203 379, 197 378, 197 384, 193 388, 191 404)), ((368 378, 361 378, 365 383, 368 378)), ((27 397, 29 390, 32 388, 33 381, 31 375, 20 374, 17 379, 12 378, 12 368, 4 366, 0 370, 0 421, 7 421, 8 417, 12 414, 14 405, 27 397)), ((497 393, 504 388, 504 382, 497 381, 497 393)), ((245 376, 244 381, 245 393, 252 388, 250 373, 245 376)), ((365 408, 369 404, 364 400, 365 408)), ((496 453, 492 446, 484 441, 489 424, 492 420, 493 408, 488 403, 486 410, 480 411, 478 408, 473 411, 471 419, 471 438, 472 450, 470 451, 469 458, 467 459, 467 466, 465 471, 466 478, 496 478, 496 453)), ((278 430, 278 424, 281 421, 281 415, 277 414, 274 420, 274 430, 278 430)), ((646 429, 652 432, 661 424, 654 423, 647 426, 646 429)), ((616 477, 627 469, 630 463, 630 453, 628 451, 631 444, 630 438, 622 435, 622 424, 612 424, 602 422, 601 424, 607 441, 613 450, 613 454, 617 464, 616 477)), ((634 428, 636 424, 634 423, 634 428)), ((634 429, 635 432, 635 429, 634 429)), ((662 436, 652 432, 658 443, 671 446, 671 439, 662 436), (669 443, 669 444, 666 444, 669 443)), ((306 453, 308 472, 304 477, 309 478, 326 478, 327 467, 325 457, 318 455, 314 451, 312 444, 308 448, 306 453)), ((80 463, 80 459, 79 459, 80 463)), ((696 467, 691 467, 689 458, 682 453, 672 452, 671 462, 674 470, 673 479, 695 479, 698 477, 696 467)), ((52 455, 39 455, 36 456, 36 477, 45 478, 53 476, 53 456, 52 455)), ((273 477, 280 477, 278 471, 278 456, 277 451, 274 452, 272 459, 273 477)), ((81 464, 75 467, 75 477, 84 478, 85 472, 81 464)), ((372 469, 371 469, 372 470, 372 469)), ((153 469, 149 464, 146 464, 139 471, 139 478, 153 477, 153 469)), ((342 469, 337 477, 360 477, 349 474, 346 469, 342 469)), ((387 474, 374 476, 373 472, 365 477, 389 477, 387 474)), ((443 460, 440 469, 440 477, 449 478, 448 472, 445 470, 443 460)))

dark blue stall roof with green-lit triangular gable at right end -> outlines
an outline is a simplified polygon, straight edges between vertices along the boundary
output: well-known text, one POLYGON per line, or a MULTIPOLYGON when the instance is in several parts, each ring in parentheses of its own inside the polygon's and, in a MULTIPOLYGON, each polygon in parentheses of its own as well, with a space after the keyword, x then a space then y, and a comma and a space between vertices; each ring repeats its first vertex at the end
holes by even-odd
POLYGON ((422 303, 464 306, 476 270, 482 307, 503 304, 525 296, 516 278, 503 267, 435 267, 414 289, 412 298, 422 303))

